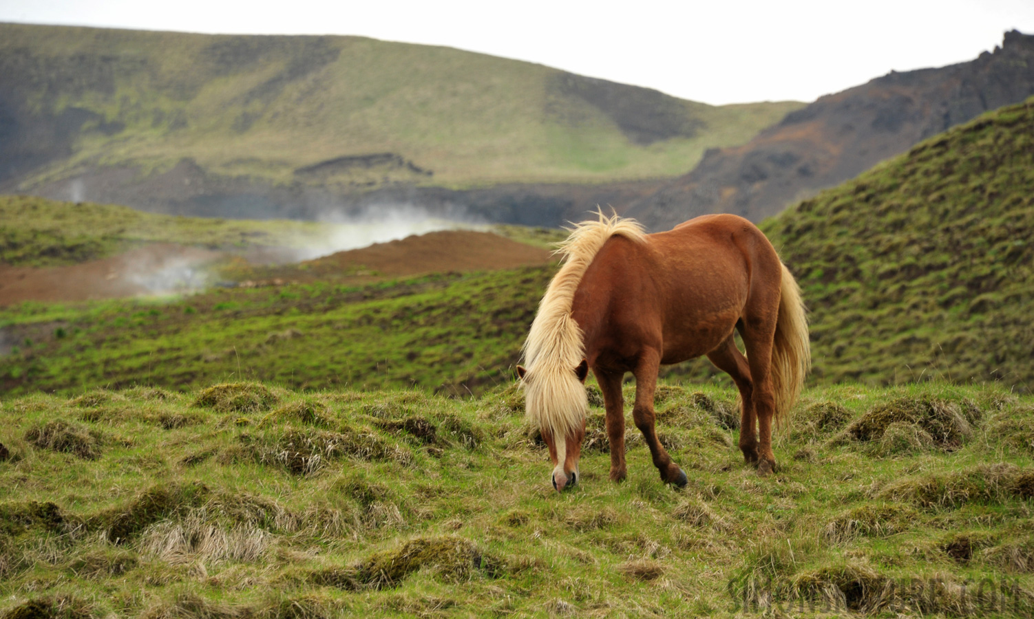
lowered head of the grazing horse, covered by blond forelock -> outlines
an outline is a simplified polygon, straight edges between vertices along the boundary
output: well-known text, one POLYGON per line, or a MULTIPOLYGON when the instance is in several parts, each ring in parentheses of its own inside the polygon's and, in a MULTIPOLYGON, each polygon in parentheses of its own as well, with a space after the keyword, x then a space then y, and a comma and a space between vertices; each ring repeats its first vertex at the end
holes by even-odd
POLYGON ((574 369, 517 366, 524 388, 527 415, 539 424, 553 461, 553 488, 557 492, 578 483, 578 459, 585 438, 585 377, 583 359, 574 369))

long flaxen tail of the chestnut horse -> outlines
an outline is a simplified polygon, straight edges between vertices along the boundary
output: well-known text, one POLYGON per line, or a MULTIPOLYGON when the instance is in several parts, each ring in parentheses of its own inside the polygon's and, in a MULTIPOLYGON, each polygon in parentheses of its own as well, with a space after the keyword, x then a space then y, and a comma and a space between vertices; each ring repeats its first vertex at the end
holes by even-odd
POLYGON ((772 345, 772 388, 776 392, 776 421, 780 423, 800 396, 804 376, 812 367, 808 341, 808 318, 800 288, 783 265, 783 285, 779 304, 779 322, 772 345))

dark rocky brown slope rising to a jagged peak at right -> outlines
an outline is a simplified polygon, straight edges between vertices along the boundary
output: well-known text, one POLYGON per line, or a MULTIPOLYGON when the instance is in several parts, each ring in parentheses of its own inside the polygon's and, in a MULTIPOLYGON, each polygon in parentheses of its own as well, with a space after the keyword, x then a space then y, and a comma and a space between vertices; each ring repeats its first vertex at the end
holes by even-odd
POLYGON ((750 143, 708 152, 627 214, 653 230, 705 213, 760 221, 985 111, 1034 94, 1034 36, 1012 31, 971 62, 888 75, 788 115, 750 143))

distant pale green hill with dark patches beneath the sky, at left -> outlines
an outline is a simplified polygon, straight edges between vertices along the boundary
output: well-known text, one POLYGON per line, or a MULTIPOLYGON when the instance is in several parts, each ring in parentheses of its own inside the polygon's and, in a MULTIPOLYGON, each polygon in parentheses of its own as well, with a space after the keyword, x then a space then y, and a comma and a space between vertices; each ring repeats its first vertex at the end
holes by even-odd
POLYGON ((146 175, 184 158, 216 176, 355 190, 652 178, 800 106, 716 107, 525 62, 341 36, 0 24, 0 67, 7 106, 25 126, 45 127, 37 133, 53 134, 55 152, 69 151, 28 185, 84 166, 146 175))

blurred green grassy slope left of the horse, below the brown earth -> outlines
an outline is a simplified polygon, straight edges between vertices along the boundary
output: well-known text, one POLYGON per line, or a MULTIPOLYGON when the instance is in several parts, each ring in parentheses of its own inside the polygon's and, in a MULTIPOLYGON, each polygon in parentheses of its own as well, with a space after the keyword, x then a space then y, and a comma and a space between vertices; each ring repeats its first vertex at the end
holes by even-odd
POLYGON ((550 268, 327 282, 0 310, 0 393, 195 389, 213 377, 294 389, 480 392, 507 379, 550 268))

